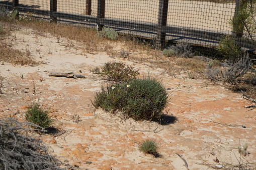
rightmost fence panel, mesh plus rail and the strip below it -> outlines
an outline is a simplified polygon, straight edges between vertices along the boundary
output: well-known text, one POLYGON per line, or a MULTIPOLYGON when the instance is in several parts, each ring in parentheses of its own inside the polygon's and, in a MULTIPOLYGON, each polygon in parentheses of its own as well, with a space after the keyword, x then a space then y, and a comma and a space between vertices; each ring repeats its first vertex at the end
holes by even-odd
POLYGON ((214 47, 223 34, 232 34, 230 19, 235 12, 234 1, 183 1, 168 3, 166 40, 214 47))

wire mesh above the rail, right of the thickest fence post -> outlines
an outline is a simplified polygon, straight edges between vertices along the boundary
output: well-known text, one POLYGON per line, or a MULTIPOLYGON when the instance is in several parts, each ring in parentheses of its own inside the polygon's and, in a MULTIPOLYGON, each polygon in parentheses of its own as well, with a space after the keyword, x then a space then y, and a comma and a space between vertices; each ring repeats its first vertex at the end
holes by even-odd
POLYGON ((230 34, 228 22, 234 16, 235 2, 169 1, 167 25, 230 34))

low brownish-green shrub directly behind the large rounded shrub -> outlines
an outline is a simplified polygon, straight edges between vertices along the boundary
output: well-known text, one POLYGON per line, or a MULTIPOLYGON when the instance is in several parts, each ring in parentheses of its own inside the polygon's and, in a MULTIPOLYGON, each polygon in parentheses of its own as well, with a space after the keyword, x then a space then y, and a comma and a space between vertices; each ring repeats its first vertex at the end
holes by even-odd
POLYGON ((101 76, 109 81, 129 81, 139 75, 139 69, 125 66, 122 62, 108 62, 102 68, 101 76))

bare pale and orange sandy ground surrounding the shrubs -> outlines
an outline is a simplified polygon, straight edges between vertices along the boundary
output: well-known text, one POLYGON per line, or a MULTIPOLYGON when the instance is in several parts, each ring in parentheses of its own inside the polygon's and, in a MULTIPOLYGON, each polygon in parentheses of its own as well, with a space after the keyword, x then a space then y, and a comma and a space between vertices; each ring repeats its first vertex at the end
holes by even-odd
MULTIPOLYGON (((186 169, 180 154, 190 169, 211 169, 203 163, 229 167, 228 164, 237 165, 239 161, 255 167, 256 110, 247 111, 244 106, 249 102, 223 85, 188 79, 182 74, 171 77, 160 74, 162 70, 128 59, 113 59, 105 53, 83 53, 74 41, 70 47, 70 41, 64 38, 57 43, 57 37, 36 35, 33 30, 21 29, 13 33, 10 41, 14 48, 29 50, 38 61, 47 64, 0 65, 0 75, 4 77, 0 116, 12 115, 24 121, 26 107, 37 99, 50 107, 56 120, 54 127, 64 132, 41 138, 60 160, 87 169, 186 169), (150 76, 162 81, 170 89, 165 112, 173 116, 173 122, 159 125, 124 121, 119 115, 95 110, 90 99, 107 83, 90 69, 107 61, 139 67, 141 75, 150 71, 150 76), (86 78, 49 77, 49 72, 74 72, 86 78), (139 151, 138 143, 143 139, 156 140, 159 157, 139 151), (237 146, 245 143, 249 154, 240 157, 237 146)), ((115 50, 125 47, 109 43, 115 50)))

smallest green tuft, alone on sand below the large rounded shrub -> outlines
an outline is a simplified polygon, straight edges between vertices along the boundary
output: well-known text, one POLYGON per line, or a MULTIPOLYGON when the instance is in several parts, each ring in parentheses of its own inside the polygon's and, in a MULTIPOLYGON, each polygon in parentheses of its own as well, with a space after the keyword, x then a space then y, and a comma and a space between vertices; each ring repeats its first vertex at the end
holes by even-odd
POLYGON ((143 140, 143 142, 141 142, 139 144, 139 150, 147 153, 147 154, 152 154, 154 156, 156 156, 156 150, 157 150, 158 146, 155 140, 152 139, 146 139, 143 140))

